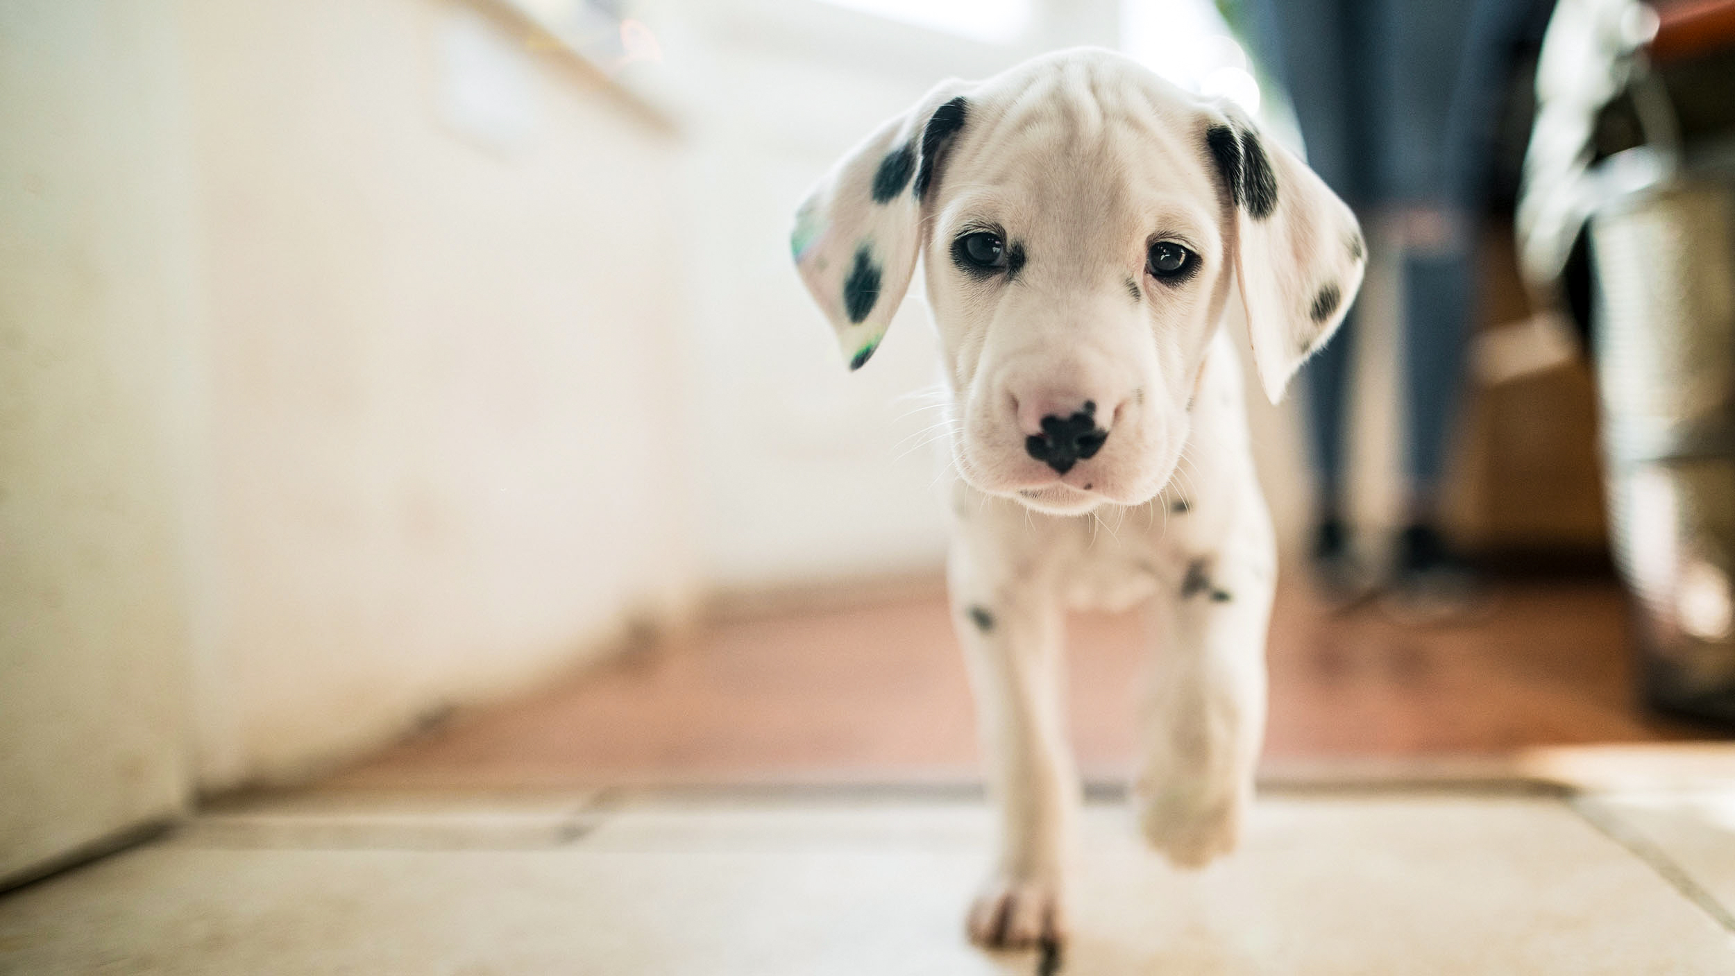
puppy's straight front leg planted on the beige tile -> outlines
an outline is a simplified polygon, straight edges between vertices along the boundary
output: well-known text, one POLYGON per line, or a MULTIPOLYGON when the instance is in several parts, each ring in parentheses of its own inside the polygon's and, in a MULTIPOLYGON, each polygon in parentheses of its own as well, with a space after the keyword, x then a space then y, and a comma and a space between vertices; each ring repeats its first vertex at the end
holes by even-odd
POLYGON ((1062 941, 1081 791, 1065 744, 1060 603, 1048 581, 985 577, 965 546, 953 550, 951 593, 999 811, 999 858, 970 907, 970 938, 1062 941))

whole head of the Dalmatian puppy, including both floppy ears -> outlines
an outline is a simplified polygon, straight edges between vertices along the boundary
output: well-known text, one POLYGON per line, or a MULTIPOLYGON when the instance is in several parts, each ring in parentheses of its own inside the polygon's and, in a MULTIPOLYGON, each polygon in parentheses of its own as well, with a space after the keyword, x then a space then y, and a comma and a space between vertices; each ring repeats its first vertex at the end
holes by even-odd
POLYGON ((821 180, 791 243, 852 368, 926 262, 958 472, 1057 515, 1169 480, 1232 286, 1275 402, 1364 265, 1301 161, 1105 50, 939 85, 821 180))

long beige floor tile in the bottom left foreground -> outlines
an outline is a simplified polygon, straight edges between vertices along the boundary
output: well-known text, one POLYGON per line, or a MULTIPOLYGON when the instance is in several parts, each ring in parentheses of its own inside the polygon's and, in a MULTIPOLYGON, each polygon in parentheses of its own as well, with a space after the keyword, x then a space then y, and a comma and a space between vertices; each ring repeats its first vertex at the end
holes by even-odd
POLYGON ((156 848, 0 903, 0 973, 989 974, 968 853, 156 848))

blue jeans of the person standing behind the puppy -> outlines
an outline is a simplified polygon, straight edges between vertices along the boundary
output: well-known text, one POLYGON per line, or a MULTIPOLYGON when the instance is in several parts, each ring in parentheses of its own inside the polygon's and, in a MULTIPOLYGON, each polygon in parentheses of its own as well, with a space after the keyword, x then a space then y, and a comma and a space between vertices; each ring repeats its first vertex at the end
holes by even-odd
MULTIPOLYGON (((1473 246, 1506 57, 1529 0, 1253 0, 1242 24, 1294 102, 1308 165, 1362 217, 1409 215, 1404 264, 1404 465, 1438 496, 1464 385, 1473 246)), ((1305 369, 1327 513, 1341 511, 1352 307, 1305 369)))

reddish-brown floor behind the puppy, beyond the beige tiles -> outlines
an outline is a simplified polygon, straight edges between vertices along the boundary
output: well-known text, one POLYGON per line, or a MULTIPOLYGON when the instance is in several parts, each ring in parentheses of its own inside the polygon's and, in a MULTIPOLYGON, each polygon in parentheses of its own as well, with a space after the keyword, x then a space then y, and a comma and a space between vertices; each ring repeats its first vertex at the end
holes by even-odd
MULTIPOLYGON (((1077 617, 1069 641, 1081 768, 1123 775, 1147 640, 1136 615, 1077 617)), ((1509 582, 1452 628, 1374 605, 1334 615, 1286 588, 1272 622, 1275 770, 1693 733, 1641 714, 1612 581, 1509 582)), ((715 624, 404 744, 350 785, 958 778, 975 770, 970 690, 944 596, 715 624)))

